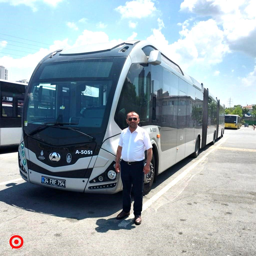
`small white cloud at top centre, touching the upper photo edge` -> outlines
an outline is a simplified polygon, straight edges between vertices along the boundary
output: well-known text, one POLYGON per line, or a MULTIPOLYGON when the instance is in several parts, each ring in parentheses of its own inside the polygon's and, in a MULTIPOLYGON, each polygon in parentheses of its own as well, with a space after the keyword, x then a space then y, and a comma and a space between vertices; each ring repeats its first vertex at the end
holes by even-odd
POLYGON ((119 12, 122 18, 145 18, 156 11, 154 2, 151 0, 134 0, 126 2, 124 6, 120 5, 115 10, 119 12))

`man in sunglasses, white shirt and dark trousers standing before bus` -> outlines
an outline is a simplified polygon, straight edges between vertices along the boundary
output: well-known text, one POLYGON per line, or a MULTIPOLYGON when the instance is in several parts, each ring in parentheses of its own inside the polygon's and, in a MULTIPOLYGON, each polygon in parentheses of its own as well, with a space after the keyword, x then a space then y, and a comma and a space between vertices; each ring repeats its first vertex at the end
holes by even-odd
POLYGON ((128 128, 121 132, 119 146, 116 153, 115 169, 120 172, 121 161, 121 179, 123 183, 123 210, 116 219, 123 219, 130 215, 131 210, 131 189, 134 193, 134 222, 141 224, 142 197, 143 197, 143 179, 144 174, 150 171, 150 161, 152 159, 152 144, 147 131, 140 126, 139 115, 132 111, 126 115, 128 128), (147 163, 144 166, 144 151, 147 150, 147 163))

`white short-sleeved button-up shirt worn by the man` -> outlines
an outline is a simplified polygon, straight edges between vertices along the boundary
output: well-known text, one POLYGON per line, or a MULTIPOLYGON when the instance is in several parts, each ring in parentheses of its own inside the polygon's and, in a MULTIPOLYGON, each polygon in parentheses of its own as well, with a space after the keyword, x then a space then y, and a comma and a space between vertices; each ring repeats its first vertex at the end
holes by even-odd
POLYGON ((119 146, 122 147, 122 159, 126 162, 143 160, 144 151, 152 148, 148 132, 140 126, 133 133, 129 127, 124 129, 120 135, 119 146))

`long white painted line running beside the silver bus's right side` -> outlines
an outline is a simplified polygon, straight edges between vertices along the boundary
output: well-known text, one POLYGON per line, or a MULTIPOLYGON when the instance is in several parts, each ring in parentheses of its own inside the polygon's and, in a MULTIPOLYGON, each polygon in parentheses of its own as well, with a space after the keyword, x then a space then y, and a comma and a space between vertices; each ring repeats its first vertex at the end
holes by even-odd
MULTIPOLYGON (((184 178, 191 170, 193 170, 199 163, 205 160, 205 158, 214 150, 216 150, 222 143, 224 143, 229 137, 226 137, 222 139, 222 141, 213 147, 209 152, 207 152, 204 156, 202 156, 200 159, 198 159, 194 164, 189 166, 186 170, 184 170, 181 174, 179 174, 174 180, 172 180, 169 184, 167 184, 164 188, 162 188, 158 193, 156 193, 154 196, 152 196, 150 199, 148 199, 142 206, 142 212, 145 211, 147 208, 149 208, 159 197, 161 197, 163 194, 165 194, 171 187, 173 187, 175 184, 177 184, 182 178, 184 178)), ((119 227, 126 227, 128 224, 130 224, 133 221, 133 219, 127 219, 121 221, 118 226, 119 227)))

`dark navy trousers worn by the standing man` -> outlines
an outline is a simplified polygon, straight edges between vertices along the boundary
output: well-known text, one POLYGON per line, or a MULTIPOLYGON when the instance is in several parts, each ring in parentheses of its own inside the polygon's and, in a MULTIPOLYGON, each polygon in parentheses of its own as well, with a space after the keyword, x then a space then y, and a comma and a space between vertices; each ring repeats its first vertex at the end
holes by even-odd
POLYGON ((133 187, 134 215, 141 215, 142 197, 143 197, 143 179, 144 179, 144 160, 129 165, 121 161, 121 179, 123 183, 123 211, 130 212, 131 210, 131 190, 133 187))

